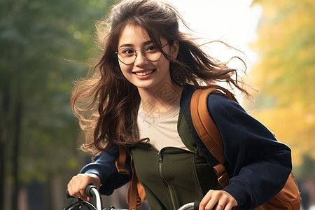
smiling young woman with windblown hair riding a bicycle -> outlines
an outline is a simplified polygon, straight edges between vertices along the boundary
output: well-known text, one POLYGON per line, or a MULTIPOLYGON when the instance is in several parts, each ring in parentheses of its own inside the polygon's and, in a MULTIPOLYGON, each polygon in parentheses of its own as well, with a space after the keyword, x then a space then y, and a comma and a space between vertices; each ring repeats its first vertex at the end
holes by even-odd
POLYGON ((183 20, 168 3, 122 1, 108 21, 98 28, 102 57, 71 97, 87 134, 85 149, 97 155, 73 176, 69 194, 88 200, 90 183, 109 195, 130 181, 132 172, 119 174, 115 165, 118 146, 125 145, 151 209, 177 209, 194 200, 202 200, 200 209, 253 209, 274 197, 291 171, 288 146, 239 104, 211 94, 209 114, 221 132, 231 177, 222 189, 209 161, 198 155, 180 109, 197 88, 218 81, 248 95, 237 70, 179 31, 183 20))

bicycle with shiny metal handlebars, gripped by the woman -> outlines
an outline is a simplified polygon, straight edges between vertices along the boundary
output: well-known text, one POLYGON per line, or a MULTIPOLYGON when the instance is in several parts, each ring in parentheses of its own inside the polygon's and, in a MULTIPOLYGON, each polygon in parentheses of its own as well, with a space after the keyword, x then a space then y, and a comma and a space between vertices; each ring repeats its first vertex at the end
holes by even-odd
MULTIPOLYGON (((102 197, 95 186, 88 185, 85 188, 85 194, 89 197, 94 198, 93 203, 95 204, 95 206, 91 204, 90 202, 85 202, 82 199, 78 198, 76 199, 75 202, 72 202, 71 204, 69 204, 68 207, 62 210, 79 210, 79 209, 83 209, 83 207, 87 207, 87 209, 92 209, 92 210, 128 210, 128 209, 116 209, 115 207, 109 207, 108 209, 103 209, 102 197)), ((68 193, 68 190, 66 190, 66 197, 71 198, 71 196, 68 193)), ((199 204, 200 204, 199 201, 191 202, 188 204, 184 204, 178 210, 197 210, 199 209, 199 204)))

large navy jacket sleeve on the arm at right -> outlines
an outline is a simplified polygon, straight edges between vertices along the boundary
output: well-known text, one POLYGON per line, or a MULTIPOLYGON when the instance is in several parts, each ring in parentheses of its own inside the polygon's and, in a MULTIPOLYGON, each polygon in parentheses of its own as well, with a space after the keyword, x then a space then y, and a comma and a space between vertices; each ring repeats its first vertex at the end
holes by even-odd
POLYGON ((208 110, 221 132, 225 167, 231 177, 223 190, 235 197, 241 209, 269 201, 283 188, 291 172, 290 148, 226 97, 211 94, 208 110))

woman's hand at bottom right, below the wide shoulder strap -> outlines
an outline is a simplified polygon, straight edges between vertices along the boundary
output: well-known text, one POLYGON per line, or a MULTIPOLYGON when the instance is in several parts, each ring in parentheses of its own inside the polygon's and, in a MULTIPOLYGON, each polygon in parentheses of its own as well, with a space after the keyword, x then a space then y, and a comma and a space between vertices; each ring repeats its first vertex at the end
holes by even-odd
POLYGON ((223 190, 210 190, 200 202, 199 210, 231 210, 237 207, 237 201, 223 190))

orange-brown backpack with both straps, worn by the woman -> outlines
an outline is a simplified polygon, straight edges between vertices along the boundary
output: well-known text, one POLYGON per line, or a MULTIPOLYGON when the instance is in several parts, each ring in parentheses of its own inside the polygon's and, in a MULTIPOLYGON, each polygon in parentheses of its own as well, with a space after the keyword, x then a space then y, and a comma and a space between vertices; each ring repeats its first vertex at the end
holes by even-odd
MULTIPOLYGON (((221 89, 221 88, 220 88, 221 89)), ((237 99, 232 93, 226 92, 225 89, 221 89, 225 97, 237 102, 237 99)), ((220 162, 218 165, 214 166, 214 171, 218 176, 218 183, 224 188, 228 186, 230 177, 225 170, 223 164, 225 163, 223 141, 221 139, 221 134, 214 124, 214 121, 209 115, 207 108, 207 99, 209 94, 214 92, 220 92, 218 87, 210 87, 207 89, 197 89, 193 93, 193 97, 190 102, 190 112, 193 120, 193 125, 200 139, 205 146, 209 149, 214 158, 220 162)), ((125 173, 124 165, 126 159, 126 149, 124 146, 119 147, 119 158, 116 161, 116 167, 118 172, 125 173)), ((132 181, 130 183, 130 189, 128 192, 128 200, 130 202, 130 209, 140 209, 141 201, 144 201, 146 195, 144 193, 144 188, 139 183, 137 174, 134 171, 134 166, 132 162, 132 181)), ((269 200, 269 202, 262 204, 260 207, 255 208, 255 210, 299 210, 300 209, 300 192, 297 188, 297 184, 290 173, 288 181, 283 189, 269 200)))

